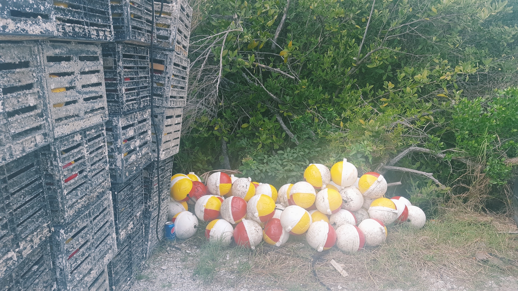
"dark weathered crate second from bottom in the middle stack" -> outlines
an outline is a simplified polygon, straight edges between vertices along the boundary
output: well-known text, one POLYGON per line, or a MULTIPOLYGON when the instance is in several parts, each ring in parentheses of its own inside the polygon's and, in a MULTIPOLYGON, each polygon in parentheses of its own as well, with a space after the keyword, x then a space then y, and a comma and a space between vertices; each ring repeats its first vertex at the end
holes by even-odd
POLYGON ((111 184, 117 245, 121 248, 143 229, 144 191, 142 171, 123 184, 111 184))

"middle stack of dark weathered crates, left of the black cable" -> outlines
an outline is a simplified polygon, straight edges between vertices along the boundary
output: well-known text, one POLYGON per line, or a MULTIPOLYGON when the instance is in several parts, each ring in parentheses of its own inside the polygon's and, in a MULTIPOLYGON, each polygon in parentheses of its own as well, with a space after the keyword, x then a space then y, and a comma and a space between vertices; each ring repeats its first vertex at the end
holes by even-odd
POLYGON ((143 169, 151 162, 151 3, 111 1, 115 43, 103 44, 109 119, 108 161, 118 253, 108 268, 110 286, 129 288, 145 258, 143 169), (122 9, 121 7, 125 7, 122 9), (129 10, 128 10, 129 9, 129 10), (127 14, 130 11, 130 14, 127 14), (117 22, 116 21, 116 22, 117 22))

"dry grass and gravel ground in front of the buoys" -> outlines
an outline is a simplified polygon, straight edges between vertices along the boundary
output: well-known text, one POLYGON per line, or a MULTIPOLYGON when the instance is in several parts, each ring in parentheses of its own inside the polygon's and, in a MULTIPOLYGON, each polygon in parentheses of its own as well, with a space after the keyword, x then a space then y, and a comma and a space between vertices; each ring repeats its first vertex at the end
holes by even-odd
POLYGON ((251 251, 207 244, 200 232, 187 242, 200 249, 190 264, 197 279, 205 283, 260 284, 279 290, 336 290, 338 286, 436 290, 436 282, 448 282, 457 289, 488 290, 492 289, 488 282, 518 278, 518 235, 508 233, 516 231, 513 221, 462 208, 441 212, 420 230, 391 226, 384 245, 356 254, 336 248, 318 253, 304 237, 291 237, 280 248, 263 242, 251 251), (476 260, 478 252, 496 260, 476 260), (343 264, 349 276, 341 277, 329 264, 331 259, 343 264))

